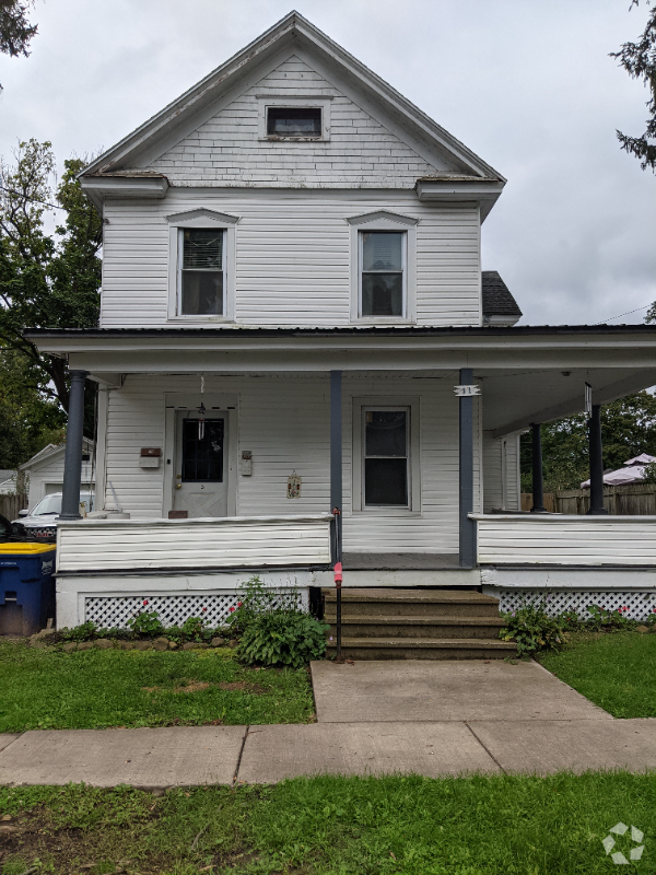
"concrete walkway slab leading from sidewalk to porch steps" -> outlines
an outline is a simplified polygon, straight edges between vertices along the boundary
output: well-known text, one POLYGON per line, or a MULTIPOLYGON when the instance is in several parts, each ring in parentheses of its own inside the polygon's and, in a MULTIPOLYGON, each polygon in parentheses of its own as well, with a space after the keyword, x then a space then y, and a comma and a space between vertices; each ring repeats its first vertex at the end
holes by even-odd
POLYGON ((493 660, 313 662, 319 723, 612 720, 541 665, 493 660))

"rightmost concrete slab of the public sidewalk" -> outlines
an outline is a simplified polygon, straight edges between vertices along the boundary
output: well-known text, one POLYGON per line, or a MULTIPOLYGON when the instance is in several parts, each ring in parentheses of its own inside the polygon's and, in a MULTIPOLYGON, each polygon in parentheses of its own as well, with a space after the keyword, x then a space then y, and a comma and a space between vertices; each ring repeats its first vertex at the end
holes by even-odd
POLYGON ((656 719, 472 721, 470 727, 506 772, 656 769, 656 719))

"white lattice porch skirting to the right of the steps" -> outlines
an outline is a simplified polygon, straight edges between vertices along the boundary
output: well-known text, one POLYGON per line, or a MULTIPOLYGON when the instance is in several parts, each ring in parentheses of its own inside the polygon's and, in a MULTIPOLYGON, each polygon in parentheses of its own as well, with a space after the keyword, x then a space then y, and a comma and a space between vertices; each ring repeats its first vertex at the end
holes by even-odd
POLYGON ((589 619, 587 610, 589 605, 597 605, 607 610, 618 610, 626 607, 624 617, 631 620, 646 620, 656 609, 655 592, 636 592, 621 590, 503 590, 484 586, 487 595, 499 598, 501 611, 517 610, 523 605, 544 605, 547 614, 555 616, 563 610, 575 610, 581 619, 589 619))

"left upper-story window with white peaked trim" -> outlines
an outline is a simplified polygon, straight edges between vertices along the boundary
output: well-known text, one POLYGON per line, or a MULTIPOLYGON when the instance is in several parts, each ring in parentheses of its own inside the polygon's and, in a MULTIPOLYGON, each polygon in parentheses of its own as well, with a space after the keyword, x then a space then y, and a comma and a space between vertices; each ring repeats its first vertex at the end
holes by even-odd
POLYGON ((236 215, 200 208, 167 215, 168 319, 234 319, 236 215))

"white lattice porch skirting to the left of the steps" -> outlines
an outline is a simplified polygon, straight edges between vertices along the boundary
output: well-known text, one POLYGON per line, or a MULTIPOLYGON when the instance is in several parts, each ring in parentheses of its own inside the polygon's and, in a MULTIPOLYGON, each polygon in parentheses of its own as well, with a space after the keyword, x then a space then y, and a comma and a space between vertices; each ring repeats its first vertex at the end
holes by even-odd
MULTIPOLYGON (((303 610, 308 610, 308 594, 306 588, 292 591, 279 590, 273 603, 282 605, 289 600, 291 593, 295 593, 298 605, 303 610)), ((125 629, 128 620, 141 611, 154 610, 159 614, 160 622, 165 626, 181 626, 189 617, 201 617, 207 626, 222 626, 231 615, 231 608, 236 608, 243 593, 179 593, 151 595, 102 595, 84 597, 84 621, 91 620, 104 629, 125 629)))

